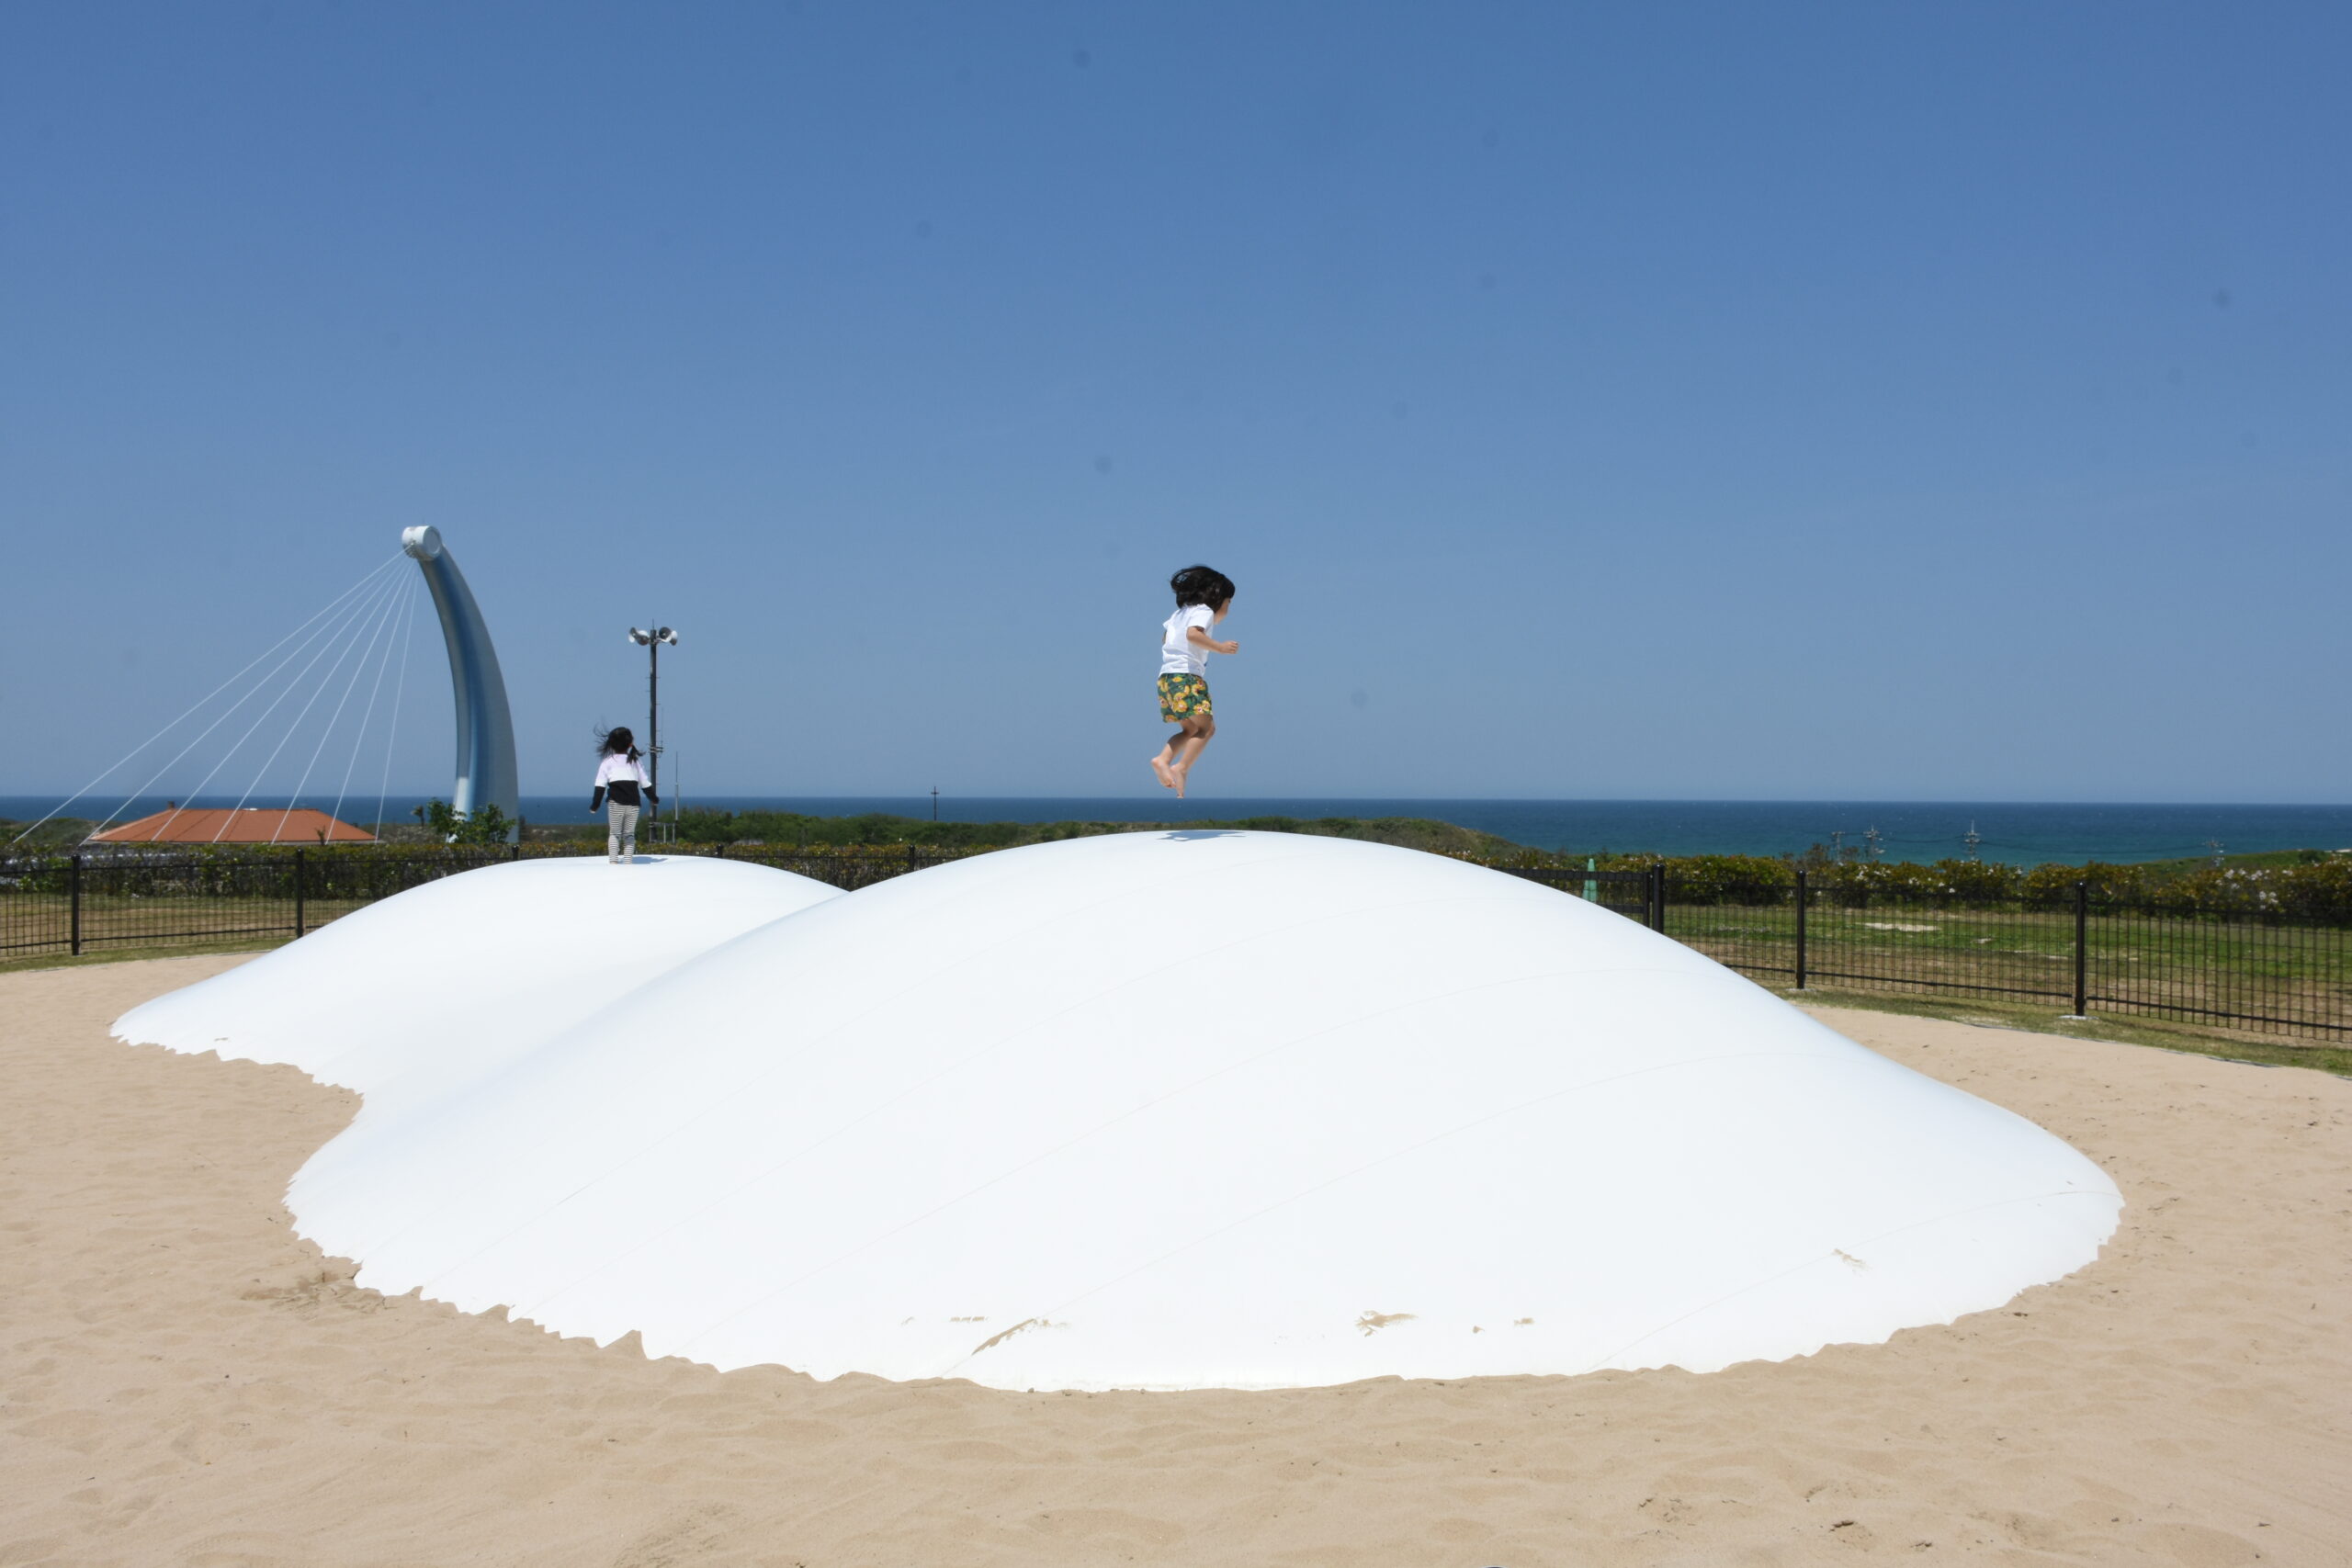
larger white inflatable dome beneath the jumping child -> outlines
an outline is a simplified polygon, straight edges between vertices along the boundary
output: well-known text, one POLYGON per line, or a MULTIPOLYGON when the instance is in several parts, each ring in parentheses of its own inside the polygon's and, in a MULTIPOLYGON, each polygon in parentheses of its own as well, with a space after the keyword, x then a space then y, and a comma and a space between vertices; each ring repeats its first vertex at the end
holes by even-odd
POLYGON ((1007 1389, 1712 1371, 1997 1307, 2122 1206, 1597 905, 1258 832, 816 903, 339 1145, 289 1204, 381 1291, 1007 1389))

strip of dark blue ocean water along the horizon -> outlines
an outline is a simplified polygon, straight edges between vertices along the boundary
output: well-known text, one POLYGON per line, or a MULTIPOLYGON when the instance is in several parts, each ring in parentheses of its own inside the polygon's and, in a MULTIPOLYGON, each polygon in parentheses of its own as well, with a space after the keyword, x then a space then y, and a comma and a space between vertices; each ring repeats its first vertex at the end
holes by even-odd
MULTIPOLYGON (((386 802, 388 818, 405 818, 423 797, 386 802)), ((59 799, 0 797, 0 818, 31 820, 59 799)), ((233 806, 235 799, 188 804, 233 806)), ((280 799, 247 802, 259 806, 280 799)), ((332 799, 303 804, 332 809, 332 799)), ((699 795, 687 804, 722 811, 802 811, 809 816, 929 818, 931 797, 807 797, 807 795, 699 795)), ((75 816, 99 816, 103 806, 78 804, 75 816)), ((162 799, 134 802, 125 816, 160 811, 162 799)), ((374 816, 374 797, 346 802, 346 820, 374 816)), ((586 823, 588 797, 524 797, 534 823, 586 823)), ((1983 860, 2039 865, 2058 860, 2173 860, 2183 856, 2260 853, 2274 849, 2352 849, 2352 806, 2138 806, 2138 804, 2030 804, 2030 802, 1729 802, 1729 799, 1214 799, 1160 797, 941 797, 938 816, 950 823, 1178 823, 1232 820, 1244 816, 1428 816, 1461 827, 1494 832, 1515 844, 1573 853, 1804 853, 1811 844, 1863 846, 1877 830, 1886 860, 1940 860, 1964 856, 1971 825, 1983 860)))

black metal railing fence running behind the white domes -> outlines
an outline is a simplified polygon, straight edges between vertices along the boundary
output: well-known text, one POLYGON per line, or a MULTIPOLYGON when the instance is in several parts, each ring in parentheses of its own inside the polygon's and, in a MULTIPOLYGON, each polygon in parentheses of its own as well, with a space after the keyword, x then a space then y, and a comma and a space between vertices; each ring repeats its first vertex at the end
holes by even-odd
MULTIPOLYGON (((960 858, 929 849, 675 844, 668 853, 757 860, 858 889, 960 858)), ((0 961, 132 947, 296 938, 360 905, 499 860, 576 856, 576 844, 499 849, 292 849, 0 858, 0 961)), ((2145 1013, 2232 1030, 2352 1034, 2352 931, 2265 914, 2183 914, 2103 900, 2058 905, 1884 889, 1677 889, 1646 870, 1503 867, 1663 931, 1792 990, 2016 997, 2070 1013, 2145 1013)))

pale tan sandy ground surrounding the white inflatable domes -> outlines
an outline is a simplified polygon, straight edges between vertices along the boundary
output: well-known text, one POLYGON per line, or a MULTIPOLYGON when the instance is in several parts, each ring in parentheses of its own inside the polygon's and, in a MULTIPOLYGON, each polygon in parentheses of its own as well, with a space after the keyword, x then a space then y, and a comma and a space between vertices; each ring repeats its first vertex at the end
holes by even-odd
POLYGON ((2352 1563, 2352 1084, 1823 1013, 2098 1159, 2105 1255, 1788 1363, 1289 1394, 818 1385, 348 1284, 353 1112, 127 1048, 238 959, 0 976, 0 1563, 2352 1563))

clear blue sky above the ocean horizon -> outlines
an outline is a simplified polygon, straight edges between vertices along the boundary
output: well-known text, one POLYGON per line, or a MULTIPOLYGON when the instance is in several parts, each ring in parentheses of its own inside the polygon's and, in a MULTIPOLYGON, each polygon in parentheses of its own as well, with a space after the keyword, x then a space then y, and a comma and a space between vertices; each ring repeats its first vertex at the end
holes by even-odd
MULTIPOLYGON (((524 792, 642 710, 654 616, 689 788, 1145 795, 1207 559, 1204 797, 2345 802, 2347 45, 7 7, 0 795, 430 522, 524 792)), ((395 788, 447 776, 435 656, 395 788)))

